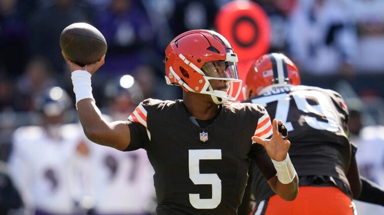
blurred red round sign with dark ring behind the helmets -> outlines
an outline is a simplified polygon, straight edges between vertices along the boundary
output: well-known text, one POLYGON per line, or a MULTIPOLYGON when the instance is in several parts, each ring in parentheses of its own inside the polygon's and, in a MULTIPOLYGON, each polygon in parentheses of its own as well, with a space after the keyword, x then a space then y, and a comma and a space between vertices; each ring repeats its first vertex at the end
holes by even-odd
MULTIPOLYGON (((237 53, 239 78, 245 81, 252 63, 270 48, 271 25, 267 14, 254 2, 235 0, 219 10, 215 26, 237 53)), ((241 99, 242 93, 238 97, 241 99)))

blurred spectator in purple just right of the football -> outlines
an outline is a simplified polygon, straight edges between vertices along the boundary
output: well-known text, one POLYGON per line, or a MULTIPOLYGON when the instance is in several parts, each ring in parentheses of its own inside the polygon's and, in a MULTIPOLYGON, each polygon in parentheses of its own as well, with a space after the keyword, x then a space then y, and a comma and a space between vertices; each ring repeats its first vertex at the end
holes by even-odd
POLYGON ((108 44, 100 74, 109 78, 129 74, 140 63, 152 62, 154 35, 140 1, 111 0, 98 11, 95 27, 108 44))

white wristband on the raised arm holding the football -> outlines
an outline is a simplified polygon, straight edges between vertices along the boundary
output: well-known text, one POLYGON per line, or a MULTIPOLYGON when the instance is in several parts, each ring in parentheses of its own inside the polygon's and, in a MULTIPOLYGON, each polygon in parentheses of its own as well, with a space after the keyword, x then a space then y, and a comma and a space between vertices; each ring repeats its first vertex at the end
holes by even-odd
POLYGON ((73 92, 76 95, 76 110, 78 109, 78 102, 84 98, 95 99, 92 95, 91 86, 91 73, 85 70, 76 70, 72 72, 73 92))

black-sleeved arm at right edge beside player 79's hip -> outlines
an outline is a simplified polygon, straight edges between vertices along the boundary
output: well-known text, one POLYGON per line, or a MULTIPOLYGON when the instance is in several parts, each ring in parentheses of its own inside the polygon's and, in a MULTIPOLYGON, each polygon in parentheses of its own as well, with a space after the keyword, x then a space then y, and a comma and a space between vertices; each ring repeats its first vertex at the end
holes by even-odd
POLYGON ((372 204, 379 204, 384 206, 384 190, 374 182, 360 177, 362 182, 362 189, 360 197, 356 200, 364 201, 372 204))

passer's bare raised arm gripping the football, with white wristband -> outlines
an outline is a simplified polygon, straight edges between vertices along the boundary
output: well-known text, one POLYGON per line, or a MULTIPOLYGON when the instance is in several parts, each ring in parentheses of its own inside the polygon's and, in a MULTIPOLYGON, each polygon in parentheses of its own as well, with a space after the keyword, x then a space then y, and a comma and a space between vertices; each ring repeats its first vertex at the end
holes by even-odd
POLYGON ((92 95, 91 75, 103 64, 105 55, 101 59, 84 67, 69 60, 64 52, 62 55, 72 73, 73 91, 76 94, 76 108, 84 133, 92 142, 124 150, 130 143, 130 132, 125 121, 108 123, 102 117, 92 95))

